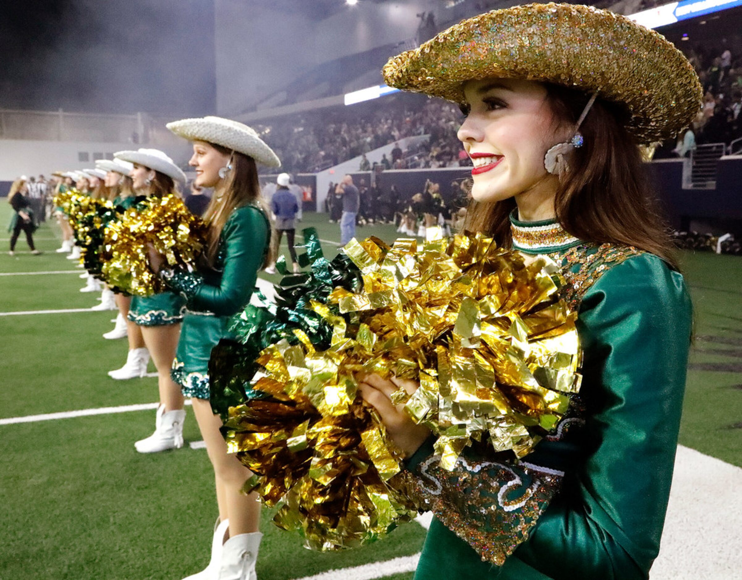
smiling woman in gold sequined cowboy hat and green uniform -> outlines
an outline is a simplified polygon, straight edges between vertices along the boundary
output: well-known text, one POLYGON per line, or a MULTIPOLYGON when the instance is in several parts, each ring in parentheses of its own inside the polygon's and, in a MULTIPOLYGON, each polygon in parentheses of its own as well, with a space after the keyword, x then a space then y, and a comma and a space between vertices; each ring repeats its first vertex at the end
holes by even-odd
POLYGON ((464 21, 391 59, 387 84, 462 107, 470 228, 561 266, 579 312, 582 389, 522 461, 466 449, 439 467, 394 406, 407 380, 362 378, 435 518, 416 579, 646 579, 669 498, 691 302, 641 145, 700 110, 693 67, 654 31, 594 7, 530 4, 464 21))

